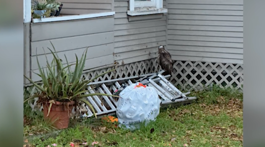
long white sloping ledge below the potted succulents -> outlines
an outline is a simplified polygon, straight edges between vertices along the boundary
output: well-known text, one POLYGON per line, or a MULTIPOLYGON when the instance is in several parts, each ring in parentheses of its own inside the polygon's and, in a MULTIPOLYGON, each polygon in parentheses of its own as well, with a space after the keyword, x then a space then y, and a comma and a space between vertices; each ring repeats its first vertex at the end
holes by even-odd
POLYGON ((32 23, 89 19, 89 18, 96 18, 96 17, 112 16, 114 14, 115 12, 112 11, 112 12, 82 14, 82 15, 73 15, 73 16, 48 17, 48 18, 42 18, 42 19, 32 19, 32 23))

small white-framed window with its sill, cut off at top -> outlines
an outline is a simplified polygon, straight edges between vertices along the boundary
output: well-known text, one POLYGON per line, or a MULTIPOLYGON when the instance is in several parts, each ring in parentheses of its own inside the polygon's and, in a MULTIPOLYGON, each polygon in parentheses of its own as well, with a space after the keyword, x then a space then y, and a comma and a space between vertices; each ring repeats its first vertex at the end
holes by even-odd
POLYGON ((167 13, 163 8, 163 0, 129 0, 130 16, 167 13))

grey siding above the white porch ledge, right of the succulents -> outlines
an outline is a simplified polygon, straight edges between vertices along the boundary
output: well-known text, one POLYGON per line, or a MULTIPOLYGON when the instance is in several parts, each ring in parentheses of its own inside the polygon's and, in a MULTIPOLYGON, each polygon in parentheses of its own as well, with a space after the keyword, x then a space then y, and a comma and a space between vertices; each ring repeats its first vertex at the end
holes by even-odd
POLYGON ((110 12, 113 0, 61 0, 63 9, 60 14, 90 14, 110 12))

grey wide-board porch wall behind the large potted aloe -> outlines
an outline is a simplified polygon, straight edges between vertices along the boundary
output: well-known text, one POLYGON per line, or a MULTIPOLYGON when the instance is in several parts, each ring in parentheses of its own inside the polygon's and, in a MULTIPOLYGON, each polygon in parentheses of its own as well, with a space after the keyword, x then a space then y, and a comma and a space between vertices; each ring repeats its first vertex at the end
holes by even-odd
POLYGON ((64 55, 68 63, 74 63, 75 54, 80 59, 87 47, 84 70, 113 64, 114 17, 31 24, 30 71, 34 81, 41 80, 34 74, 38 73, 36 55, 41 67, 46 67, 45 54, 49 61, 53 59, 47 48, 53 50, 50 41, 63 64, 64 55))

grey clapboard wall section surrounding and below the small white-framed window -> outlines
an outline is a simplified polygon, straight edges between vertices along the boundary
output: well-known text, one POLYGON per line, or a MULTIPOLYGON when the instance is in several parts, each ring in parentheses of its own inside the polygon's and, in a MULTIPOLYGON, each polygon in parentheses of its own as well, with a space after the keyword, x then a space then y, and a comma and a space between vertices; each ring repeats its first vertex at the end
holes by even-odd
POLYGON ((114 0, 114 60, 119 65, 156 58, 158 46, 166 45, 166 15, 130 17, 128 3, 114 0))

